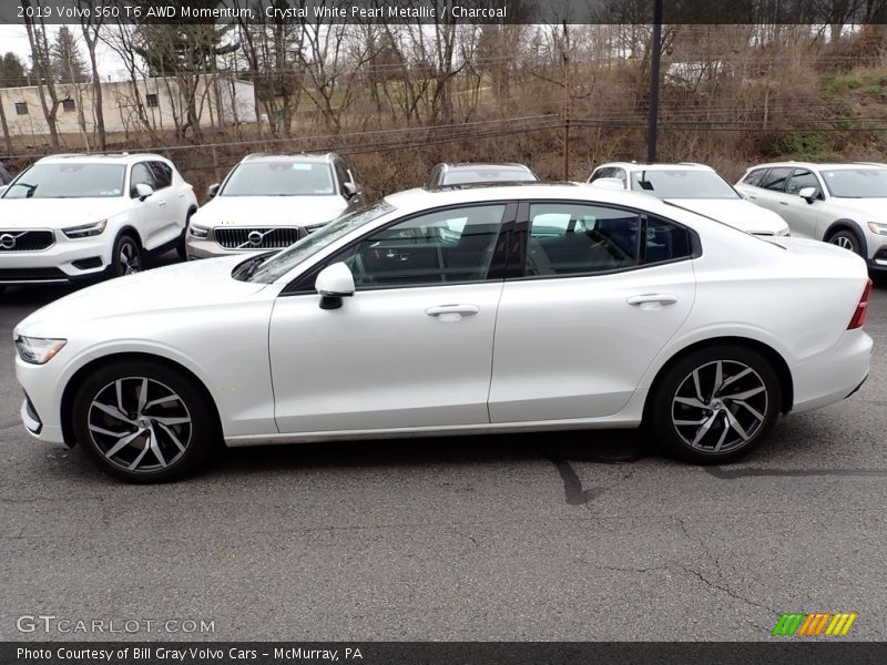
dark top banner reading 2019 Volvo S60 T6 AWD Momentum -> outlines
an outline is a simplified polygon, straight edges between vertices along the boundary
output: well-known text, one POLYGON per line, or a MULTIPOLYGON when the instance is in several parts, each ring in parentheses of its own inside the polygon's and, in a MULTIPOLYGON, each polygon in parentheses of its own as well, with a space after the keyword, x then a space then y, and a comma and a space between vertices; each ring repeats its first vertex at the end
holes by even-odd
MULTIPOLYGON (((3 0, 0 24, 652 23, 654 0, 3 0)), ((887 0, 663 0, 666 24, 887 23, 887 0)))

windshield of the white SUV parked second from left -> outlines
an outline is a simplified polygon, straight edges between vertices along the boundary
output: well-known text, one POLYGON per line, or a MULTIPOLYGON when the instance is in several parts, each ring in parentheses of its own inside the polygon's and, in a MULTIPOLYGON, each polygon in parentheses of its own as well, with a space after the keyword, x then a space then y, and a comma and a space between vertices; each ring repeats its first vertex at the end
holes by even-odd
POLYGON ((220 196, 330 196, 336 193, 326 163, 246 162, 231 172, 220 196))

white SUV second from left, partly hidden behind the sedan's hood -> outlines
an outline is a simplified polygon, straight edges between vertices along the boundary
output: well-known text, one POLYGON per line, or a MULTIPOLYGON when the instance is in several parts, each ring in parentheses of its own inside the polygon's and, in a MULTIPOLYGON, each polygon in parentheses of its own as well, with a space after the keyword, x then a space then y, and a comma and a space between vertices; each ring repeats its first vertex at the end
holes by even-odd
POLYGON ((191 221, 188 258, 287 247, 364 205, 351 170, 334 153, 247 155, 207 194, 212 201, 191 221))

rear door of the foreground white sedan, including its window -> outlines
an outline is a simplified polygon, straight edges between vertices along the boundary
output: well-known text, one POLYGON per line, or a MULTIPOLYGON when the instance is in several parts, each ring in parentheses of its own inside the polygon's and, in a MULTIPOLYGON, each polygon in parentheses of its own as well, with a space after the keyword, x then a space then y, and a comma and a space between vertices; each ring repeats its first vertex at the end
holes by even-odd
POLYGON ((521 206, 496 323, 491 422, 619 412, 686 319, 694 234, 583 202, 521 206))

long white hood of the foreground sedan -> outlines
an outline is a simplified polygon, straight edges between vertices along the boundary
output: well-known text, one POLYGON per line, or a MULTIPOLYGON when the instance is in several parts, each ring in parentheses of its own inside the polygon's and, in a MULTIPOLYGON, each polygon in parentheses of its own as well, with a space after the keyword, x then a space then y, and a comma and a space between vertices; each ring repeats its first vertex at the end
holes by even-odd
POLYGON ((110 279, 70 294, 31 314, 17 326, 22 335, 59 335, 59 324, 100 321, 134 313, 177 313, 190 319, 201 308, 233 303, 266 288, 239 282, 231 272, 243 256, 225 256, 175 264, 110 279))

